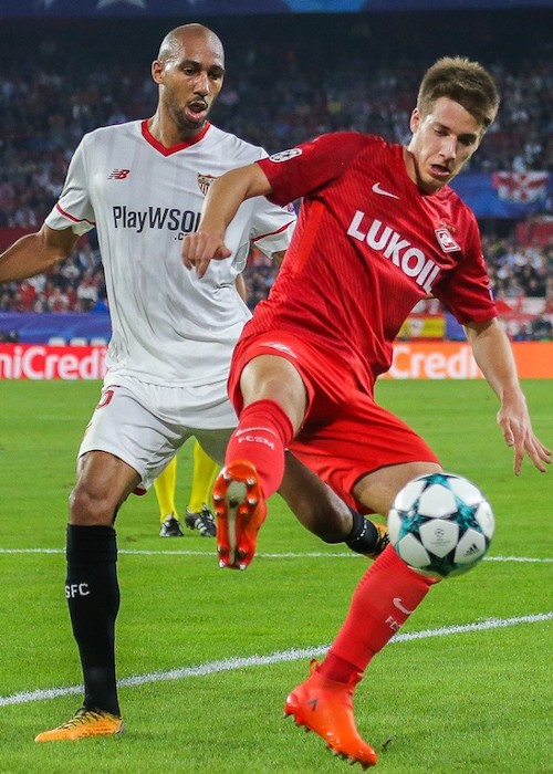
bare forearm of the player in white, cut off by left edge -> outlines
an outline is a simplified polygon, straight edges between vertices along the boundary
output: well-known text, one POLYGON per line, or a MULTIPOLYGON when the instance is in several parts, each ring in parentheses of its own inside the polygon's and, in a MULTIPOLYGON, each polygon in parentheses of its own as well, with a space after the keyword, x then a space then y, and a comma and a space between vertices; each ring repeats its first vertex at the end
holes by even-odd
POLYGON ((72 229, 55 231, 43 223, 40 231, 21 237, 0 255, 0 282, 41 274, 66 258, 77 239, 72 229))

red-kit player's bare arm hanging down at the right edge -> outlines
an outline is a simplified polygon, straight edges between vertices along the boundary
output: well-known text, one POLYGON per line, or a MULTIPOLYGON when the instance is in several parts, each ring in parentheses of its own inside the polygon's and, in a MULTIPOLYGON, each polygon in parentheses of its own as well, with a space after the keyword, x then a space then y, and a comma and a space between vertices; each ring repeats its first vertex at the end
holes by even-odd
POLYGON ((522 393, 511 345, 497 320, 465 326, 474 359, 500 400, 498 425, 508 446, 514 450, 515 475, 526 453, 538 470, 551 464, 551 450, 532 430, 526 399, 522 393))

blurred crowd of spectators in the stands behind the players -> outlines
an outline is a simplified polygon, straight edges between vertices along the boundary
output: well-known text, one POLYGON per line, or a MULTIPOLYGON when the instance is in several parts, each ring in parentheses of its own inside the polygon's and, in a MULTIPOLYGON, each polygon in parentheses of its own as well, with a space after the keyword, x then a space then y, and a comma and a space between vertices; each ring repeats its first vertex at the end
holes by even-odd
MULTIPOLYGON (((319 20, 316 35, 306 36, 298 25, 294 34, 274 28, 271 34, 252 38, 250 44, 243 43, 243 30, 240 36, 230 31, 226 35, 223 30, 228 76, 213 123, 269 153, 335 129, 377 133, 405 142, 417 84, 436 54, 478 55, 461 45, 462 30, 456 32, 455 25, 448 29, 445 50, 432 52, 404 19, 394 30, 395 45, 389 51, 368 18, 348 21, 342 35, 340 30, 336 34, 335 24, 346 22, 340 19, 334 27, 331 20, 319 20), (415 38, 418 59, 413 59, 415 38)), ((532 46, 521 45, 517 56, 505 38, 501 59, 487 46, 492 32, 493 22, 482 23, 472 44, 480 45, 484 54, 479 57, 498 80, 502 107, 469 170, 553 171, 551 35, 532 33, 532 46)), ((107 28, 104 36, 98 36, 98 30, 90 31, 94 48, 88 45, 86 30, 76 25, 71 35, 55 29, 34 30, 33 44, 19 46, 17 56, 10 55, 9 45, 3 46, 0 227, 40 227, 60 194, 83 134, 152 115, 156 87, 149 62, 157 49, 133 46, 133 30, 128 34, 131 53, 125 56, 114 49, 107 28)), ((431 35, 431 30, 426 34, 431 35)), ((153 39, 156 46, 161 36, 156 33, 153 39)), ((115 40, 121 48, 121 38, 115 40)), ((553 245, 522 247, 512 236, 484 236, 484 254, 497 297, 509 304, 521 296, 541 297, 551 307, 553 245)), ((252 307, 267 296, 273 281, 274 268, 253 254, 247 276, 252 307)), ((74 254, 49 274, 0 287, 0 311, 105 308, 94 234, 81 240, 74 254)))

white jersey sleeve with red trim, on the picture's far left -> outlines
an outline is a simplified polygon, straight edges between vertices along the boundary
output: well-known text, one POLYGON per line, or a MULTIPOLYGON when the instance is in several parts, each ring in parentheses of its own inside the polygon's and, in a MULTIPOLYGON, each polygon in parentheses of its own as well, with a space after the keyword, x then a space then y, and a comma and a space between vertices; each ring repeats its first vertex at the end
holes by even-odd
POLYGON ((88 197, 85 144, 86 137, 73 154, 61 196, 45 219, 51 229, 62 230, 71 227, 79 236, 96 226, 88 197))

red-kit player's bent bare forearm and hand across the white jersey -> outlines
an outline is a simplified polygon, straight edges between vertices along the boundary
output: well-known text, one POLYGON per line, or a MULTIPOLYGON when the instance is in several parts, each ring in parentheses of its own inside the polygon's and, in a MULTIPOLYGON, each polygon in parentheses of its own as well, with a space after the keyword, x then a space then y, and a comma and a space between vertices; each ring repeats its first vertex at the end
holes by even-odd
POLYGON ((217 178, 204 202, 198 230, 182 240, 182 261, 187 269, 196 266, 198 278, 202 278, 211 259, 230 255, 225 244, 225 232, 238 208, 254 196, 267 196, 271 186, 265 174, 257 164, 232 169, 217 178))

